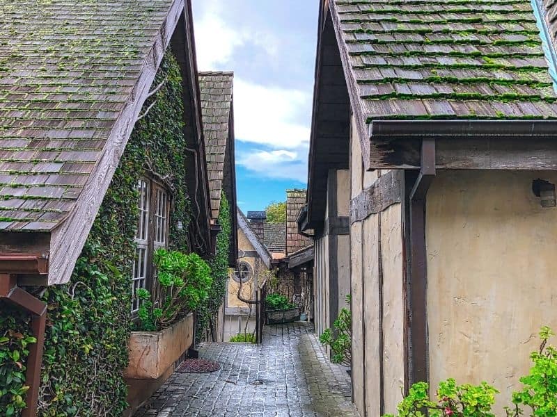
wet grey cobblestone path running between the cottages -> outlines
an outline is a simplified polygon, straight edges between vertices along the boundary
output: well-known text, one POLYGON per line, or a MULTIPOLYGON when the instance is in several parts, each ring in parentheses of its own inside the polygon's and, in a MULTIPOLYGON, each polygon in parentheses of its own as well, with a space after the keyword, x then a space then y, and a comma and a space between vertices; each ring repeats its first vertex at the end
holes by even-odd
POLYGON ((350 377, 329 362, 311 325, 265 326, 263 341, 201 345, 199 357, 221 370, 174 373, 135 416, 358 416, 350 377))

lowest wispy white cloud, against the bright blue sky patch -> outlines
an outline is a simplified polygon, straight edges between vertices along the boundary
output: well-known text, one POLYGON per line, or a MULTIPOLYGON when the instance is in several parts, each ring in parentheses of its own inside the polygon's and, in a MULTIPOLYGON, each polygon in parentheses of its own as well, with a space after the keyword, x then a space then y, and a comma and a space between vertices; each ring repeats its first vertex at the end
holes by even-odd
POLYGON ((300 183, 306 183, 308 179, 305 146, 299 147, 296 152, 251 149, 250 152, 240 152, 236 163, 266 178, 292 179, 300 183))

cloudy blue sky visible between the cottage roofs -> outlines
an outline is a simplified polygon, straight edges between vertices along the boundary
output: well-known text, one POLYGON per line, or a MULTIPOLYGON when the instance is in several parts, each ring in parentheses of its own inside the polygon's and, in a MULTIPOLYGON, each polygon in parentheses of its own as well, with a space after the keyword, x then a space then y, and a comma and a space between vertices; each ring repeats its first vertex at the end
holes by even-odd
POLYGON ((198 67, 234 71, 238 204, 306 188, 319 0, 193 0, 198 67))

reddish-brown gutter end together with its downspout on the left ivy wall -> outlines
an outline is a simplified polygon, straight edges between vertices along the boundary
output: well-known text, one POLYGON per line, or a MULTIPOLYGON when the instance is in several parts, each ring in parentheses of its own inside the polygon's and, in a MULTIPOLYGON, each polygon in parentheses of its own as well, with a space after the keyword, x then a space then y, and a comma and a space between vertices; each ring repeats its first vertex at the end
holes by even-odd
POLYGON ((37 343, 29 345, 25 384, 26 408, 22 417, 36 417, 40 386, 42 348, 45 345, 47 304, 17 286, 17 275, 22 273, 46 274, 47 260, 44 256, 0 255, 0 300, 6 301, 31 315, 31 331, 37 343), (10 272, 6 272, 11 270, 10 272))

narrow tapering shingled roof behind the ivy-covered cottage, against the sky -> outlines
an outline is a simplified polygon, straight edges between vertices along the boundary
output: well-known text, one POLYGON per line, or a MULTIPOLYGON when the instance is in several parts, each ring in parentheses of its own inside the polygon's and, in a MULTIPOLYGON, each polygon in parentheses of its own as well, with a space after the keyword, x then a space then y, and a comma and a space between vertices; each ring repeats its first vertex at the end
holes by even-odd
POLYGON ((219 217, 226 146, 230 133, 233 72, 200 72, 201 112, 211 193, 212 218, 219 217))

